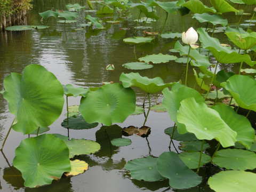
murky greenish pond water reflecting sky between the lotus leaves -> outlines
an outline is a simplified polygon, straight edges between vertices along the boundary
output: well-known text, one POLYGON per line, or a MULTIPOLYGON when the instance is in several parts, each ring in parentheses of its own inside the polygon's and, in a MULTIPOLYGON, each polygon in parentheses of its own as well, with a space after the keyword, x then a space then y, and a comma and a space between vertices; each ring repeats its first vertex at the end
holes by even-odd
MULTIPOLYGON (((86 1, 59 1, 59 0, 34 0, 33 10, 29 11, 28 25, 45 25, 46 21, 41 21, 39 12, 47 10, 66 10, 68 3, 79 3, 85 5, 86 1)), ((205 3, 207 4, 207 3, 205 3)), ((94 4, 95 7, 99 6, 94 4)), ((247 8, 246 8, 247 9, 247 8)), ((248 8, 248 10, 250 10, 248 8)), ((154 24, 153 28, 159 28, 164 21, 165 13, 157 10, 161 19, 154 24)), ((134 46, 123 42, 124 38, 134 36, 134 19, 138 19, 139 12, 130 9, 125 13, 115 13, 115 17, 122 17, 122 22, 118 24, 106 24, 106 29, 99 30, 85 28, 75 30, 81 23, 85 23, 83 10, 78 11, 78 22, 69 23, 65 26, 58 23, 56 19, 50 18, 47 25, 50 29, 28 30, 28 31, 5 31, 0 32, 0 90, 4 89, 3 80, 12 72, 22 73, 22 70, 31 63, 44 66, 51 71, 61 82, 61 84, 72 84, 74 86, 90 87, 101 86, 102 82, 119 82, 121 73, 139 72, 141 76, 153 78, 161 77, 165 83, 177 82, 179 79, 184 81, 185 65, 176 62, 156 64, 151 69, 134 71, 125 69, 122 65, 127 62, 135 61, 134 46), (121 30, 130 28, 130 30, 121 30), (106 66, 113 64, 114 71, 107 71, 106 66)), ((90 13, 95 15, 95 13, 90 13)), ((94 16, 95 17, 95 16, 94 16)), ((229 22, 237 22, 239 17, 234 14, 225 14, 229 22)), ((244 16, 243 20, 250 16, 244 16)), ((109 18, 103 15, 101 18, 106 22, 109 18)), ((193 25, 190 14, 185 16, 185 30, 193 25)), ((152 26, 148 23, 147 26, 152 26)), ((194 21, 194 27, 205 27, 194 21)), ((169 16, 164 28, 164 33, 182 32, 181 17, 179 14, 169 16)), ((226 36, 215 34, 219 39, 228 42, 226 36)), ((137 31, 137 36, 143 36, 142 31, 137 31)), ((147 43, 135 46, 137 58, 147 54, 174 54, 169 52, 173 48, 177 39, 158 39, 154 43, 147 43), (159 41, 158 41, 159 40, 159 41)), ((213 61, 214 62, 214 61, 213 61)), ((220 69, 237 71, 237 65, 220 65, 220 69)), ((192 71, 192 68, 189 69, 192 71)), ((195 80, 193 73, 188 77, 188 85, 194 87, 195 80)), ((137 105, 141 105, 145 93, 139 89, 134 89, 137 96, 137 105)), ((160 93, 153 95, 153 105, 162 101, 160 93)), ((79 105, 80 98, 69 98, 69 105, 79 105)), ((148 106, 148 103, 146 103, 148 106)), ((61 126, 61 122, 66 118, 64 115, 50 126, 48 133, 59 133, 67 135, 67 129, 61 126)), ((0 143, 5 138, 7 131, 13 121, 14 116, 9 113, 7 101, 0 95, 0 143)), ((117 124, 121 127, 129 125, 141 127, 144 121, 143 115, 130 116, 124 123, 117 124)), ((101 143, 101 150, 98 153, 86 156, 79 156, 78 159, 84 160, 89 164, 89 170, 85 173, 72 178, 63 178, 60 181, 53 181, 52 185, 30 189, 23 186, 20 172, 12 166, 15 156, 14 151, 22 139, 27 135, 11 130, 5 143, 3 154, 0 154, 0 190, 1 191, 212 191, 205 182, 193 189, 175 190, 169 187, 167 180, 158 182, 146 182, 132 179, 129 172, 124 169, 127 161, 147 157, 149 155, 158 157, 164 151, 169 151, 170 137, 164 133, 167 127, 173 126, 167 113, 156 113, 150 111, 147 126, 151 127, 151 134, 148 140, 141 137, 131 136, 132 144, 126 147, 113 147, 106 141, 101 143)), ((97 141, 97 131, 101 129, 101 124, 90 130, 70 130, 70 138, 90 139, 97 141)), ((174 142, 176 149, 172 146, 171 150, 178 150, 178 142, 174 142)), ((202 173, 206 174, 207 173, 202 173)))

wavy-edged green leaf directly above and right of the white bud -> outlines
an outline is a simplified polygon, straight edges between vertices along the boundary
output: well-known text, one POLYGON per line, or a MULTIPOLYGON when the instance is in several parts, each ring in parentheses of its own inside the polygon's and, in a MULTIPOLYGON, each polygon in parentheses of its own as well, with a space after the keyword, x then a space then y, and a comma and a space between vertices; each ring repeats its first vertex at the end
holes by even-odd
POLYGON ((228 20, 222 19, 222 17, 217 14, 210 15, 208 13, 202 13, 202 14, 195 13, 192 18, 195 18, 197 21, 199 21, 201 23, 202 22, 210 22, 214 26, 219 24, 219 25, 222 25, 223 27, 225 27, 228 25, 228 20))

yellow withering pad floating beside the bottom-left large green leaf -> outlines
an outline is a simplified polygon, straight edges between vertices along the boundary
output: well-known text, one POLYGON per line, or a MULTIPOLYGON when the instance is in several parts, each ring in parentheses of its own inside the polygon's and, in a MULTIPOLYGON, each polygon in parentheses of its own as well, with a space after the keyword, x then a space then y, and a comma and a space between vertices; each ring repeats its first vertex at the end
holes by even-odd
POLYGON ((84 173, 88 170, 88 164, 84 161, 75 159, 74 161, 70 161, 71 171, 64 173, 67 177, 73 177, 75 175, 84 173))

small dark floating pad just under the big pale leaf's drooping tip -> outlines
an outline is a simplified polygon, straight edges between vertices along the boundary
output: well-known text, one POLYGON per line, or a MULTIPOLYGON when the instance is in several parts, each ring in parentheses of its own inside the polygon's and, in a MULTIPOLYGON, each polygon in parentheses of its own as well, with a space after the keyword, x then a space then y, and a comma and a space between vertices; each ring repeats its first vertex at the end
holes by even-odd
MULTIPOLYGON (((201 151, 202 141, 182 141, 180 142, 180 150, 183 151, 201 151)), ((203 150, 205 151, 210 145, 204 141, 203 150)))

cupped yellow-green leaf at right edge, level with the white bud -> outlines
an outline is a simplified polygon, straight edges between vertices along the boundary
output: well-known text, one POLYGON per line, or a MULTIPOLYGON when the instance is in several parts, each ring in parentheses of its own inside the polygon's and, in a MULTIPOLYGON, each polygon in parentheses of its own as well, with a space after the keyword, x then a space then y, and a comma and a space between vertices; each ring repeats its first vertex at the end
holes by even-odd
POLYGON ((256 46, 256 33, 246 33, 240 34, 237 32, 226 32, 228 38, 240 49, 249 50, 252 47, 256 46))

